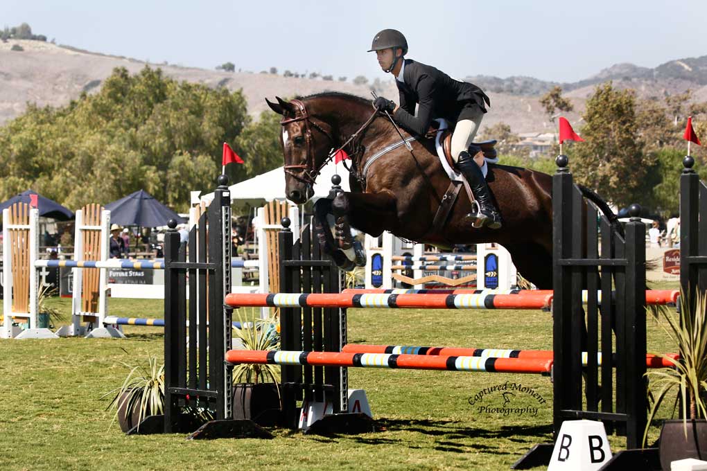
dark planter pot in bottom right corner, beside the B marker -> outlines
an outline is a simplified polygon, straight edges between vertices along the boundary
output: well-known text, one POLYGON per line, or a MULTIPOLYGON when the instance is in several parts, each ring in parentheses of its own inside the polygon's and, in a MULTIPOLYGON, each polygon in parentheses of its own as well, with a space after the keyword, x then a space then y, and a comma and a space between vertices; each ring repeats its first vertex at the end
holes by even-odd
POLYGON ((684 458, 707 460, 707 421, 687 421, 687 438, 682 419, 666 420, 660 429, 660 465, 670 470, 670 463, 684 458))

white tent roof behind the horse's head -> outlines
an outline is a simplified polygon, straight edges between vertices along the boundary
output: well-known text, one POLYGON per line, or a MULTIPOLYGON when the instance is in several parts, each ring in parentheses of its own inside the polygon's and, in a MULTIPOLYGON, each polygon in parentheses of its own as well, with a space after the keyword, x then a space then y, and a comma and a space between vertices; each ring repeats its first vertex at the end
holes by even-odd
MULTIPOLYGON (((349 171, 343 165, 329 163, 322 169, 314 186, 314 196, 318 199, 329 196, 332 188, 332 176, 338 173, 341 177, 341 189, 349 191, 349 171)), ((285 170, 283 167, 270 170, 252 179, 241 181, 228 187, 231 201, 237 200, 251 205, 260 205, 264 201, 284 200, 285 196, 285 170)), ((211 201, 214 193, 201 196, 201 200, 211 201)))

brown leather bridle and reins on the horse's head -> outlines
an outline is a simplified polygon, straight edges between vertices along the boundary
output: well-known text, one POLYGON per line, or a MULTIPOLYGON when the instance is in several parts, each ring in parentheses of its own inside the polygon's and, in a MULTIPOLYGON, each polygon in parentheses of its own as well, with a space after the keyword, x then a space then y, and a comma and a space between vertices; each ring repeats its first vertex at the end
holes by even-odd
MULTIPOLYGON (((334 158, 334 155, 337 155, 339 150, 344 149, 346 145, 349 145, 350 143, 356 141, 361 131, 368 128, 368 126, 373 122, 373 119, 375 119, 375 115, 378 114, 378 111, 374 109, 373 114, 371 114, 370 118, 368 118, 368 120, 363 124, 363 126, 361 126, 358 131, 351 134, 351 136, 346 139, 346 141, 342 145, 339 145, 339 147, 337 147, 337 141, 334 139, 334 136, 332 136, 332 126, 329 126, 329 124, 326 124, 325 122, 310 116, 307 111, 307 107, 305 107, 304 102, 302 102, 301 100, 291 100, 290 103, 292 105, 295 105, 296 107, 295 116, 291 118, 286 118, 283 116, 282 120, 280 121, 280 125, 286 126, 296 121, 304 121, 304 134, 305 143, 307 145, 307 156, 304 164, 285 165, 285 173, 290 175, 294 179, 302 181, 304 184, 312 186, 315 184, 315 179, 317 178, 317 176, 322 172, 322 168, 334 158), (312 128, 317 129, 322 134, 327 136, 329 142, 332 143, 331 152, 329 152, 327 158, 323 160, 320 165, 316 165, 315 155, 314 153, 312 153, 312 128)), ((354 160, 354 158, 356 157, 355 154, 358 153, 358 150, 360 150, 360 148, 356 145, 354 145, 354 148, 356 148, 357 152, 350 154, 352 160, 354 160)))

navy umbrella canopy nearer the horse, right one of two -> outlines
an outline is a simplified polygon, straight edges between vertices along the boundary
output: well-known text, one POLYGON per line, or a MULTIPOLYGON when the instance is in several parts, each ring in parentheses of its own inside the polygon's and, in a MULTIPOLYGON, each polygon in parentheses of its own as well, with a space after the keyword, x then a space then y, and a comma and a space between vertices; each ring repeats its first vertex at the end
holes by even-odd
POLYGON ((184 222, 182 217, 144 190, 108 203, 105 209, 110 210, 110 222, 122 226, 165 226, 170 219, 184 222))

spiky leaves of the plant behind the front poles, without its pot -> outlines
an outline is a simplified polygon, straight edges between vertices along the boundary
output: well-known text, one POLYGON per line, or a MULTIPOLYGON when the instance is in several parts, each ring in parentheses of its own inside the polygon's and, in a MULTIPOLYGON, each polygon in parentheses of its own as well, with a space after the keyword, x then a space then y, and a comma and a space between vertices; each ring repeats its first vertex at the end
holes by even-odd
MULTIPOLYGON (((275 317, 260 318, 259 309, 236 311, 240 328, 233 328, 233 338, 243 343, 243 350, 279 350, 278 321, 275 317)), ((233 368, 234 383, 277 383, 280 366, 276 364, 238 364, 233 368)))

